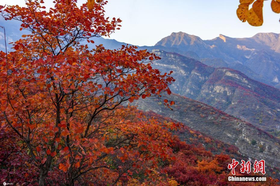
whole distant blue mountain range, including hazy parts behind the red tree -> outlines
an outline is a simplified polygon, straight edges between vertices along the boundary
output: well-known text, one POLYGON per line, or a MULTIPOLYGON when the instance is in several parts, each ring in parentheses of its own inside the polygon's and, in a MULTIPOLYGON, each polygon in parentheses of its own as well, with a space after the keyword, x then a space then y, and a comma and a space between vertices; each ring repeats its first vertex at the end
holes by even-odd
MULTIPOLYGON (((8 43, 18 40, 26 31, 19 32, 20 22, 5 21, 0 24, 6 28, 8 43)), ((4 50, 3 32, 0 31, 0 49, 4 50)), ((117 49, 126 43, 102 37, 94 38, 95 45, 117 49)), ((8 48, 11 45, 8 45, 8 48)), ((201 60, 213 67, 230 67, 239 70, 252 79, 280 88, 280 39, 279 34, 259 33, 252 38, 230 38, 224 35, 212 40, 202 40, 198 36, 183 32, 172 33, 155 46, 138 46, 139 49, 160 49, 176 52, 186 57, 201 60), (204 58, 204 59, 202 59, 204 58), (207 60, 205 60, 207 58, 207 60), (244 65, 243 67, 240 64, 244 65)))

